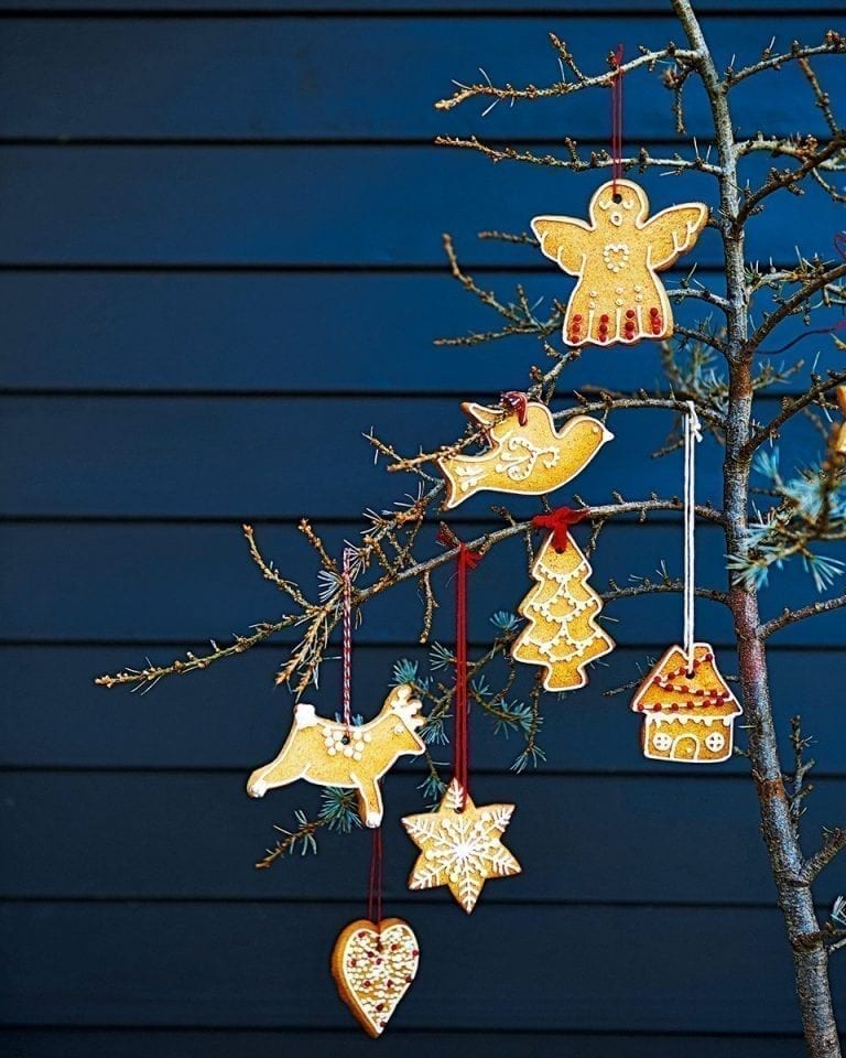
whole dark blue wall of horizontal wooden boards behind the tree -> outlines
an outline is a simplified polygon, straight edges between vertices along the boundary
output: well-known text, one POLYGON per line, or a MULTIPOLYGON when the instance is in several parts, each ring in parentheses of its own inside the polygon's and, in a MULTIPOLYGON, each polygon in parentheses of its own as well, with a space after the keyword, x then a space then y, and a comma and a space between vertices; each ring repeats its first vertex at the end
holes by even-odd
MULTIPOLYGON (((698 7, 723 63, 755 57, 773 33, 780 46, 820 39, 840 9, 698 7)), ((744 762, 649 764, 625 698, 603 695, 677 638, 676 598, 608 607, 619 649, 587 690, 547 703, 549 762, 536 773, 510 774, 513 739, 479 723, 476 791, 517 802, 508 838, 524 873, 489 885, 471 918, 443 890, 404 888, 414 852, 397 818, 419 809, 420 774, 399 767, 388 779, 388 906, 413 922, 423 961, 378 1045, 328 974, 336 933, 364 910, 366 836, 326 835, 316 857, 252 867, 273 823, 317 807, 311 787, 260 802, 243 794, 288 725, 290 699, 272 685, 283 646, 145 697, 91 683, 279 612, 240 540, 242 520, 282 570, 313 585, 302 515, 338 549, 365 506, 413 487, 373 467, 362 432, 376 427, 403 451, 434 446, 463 429, 460 399, 524 386, 540 357, 530 344, 433 347, 490 323, 446 274, 441 231, 503 294, 524 281, 532 295, 563 296, 566 280, 535 251, 475 233, 577 213, 595 177, 494 166, 431 141, 476 131, 601 147, 605 100, 499 106, 484 119, 481 106, 443 114, 432 101, 478 66, 498 80, 554 78, 549 29, 587 68, 619 41, 629 54, 681 41, 660 0, 0 2, 3 1054, 801 1055, 744 762)), ((846 63, 818 69, 846 105, 846 63)), ((655 84, 629 78, 627 134, 670 153, 677 137, 655 84)), ((736 102, 744 133, 824 134, 793 68, 738 88, 736 102)), ((704 151, 707 111, 693 85, 687 106, 704 151)), ((752 160, 750 177, 768 164, 752 160)), ((704 176, 644 182, 660 205, 714 202, 704 176)), ((755 219, 749 253, 781 263, 801 245, 828 256, 843 226, 809 188, 755 219)), ((719 287, 713 231, 694 258, 719 287)), ((843 357, 827 339, 803 350, 820 352, 822 366, 843 357)), ((565 389, 633 389, 658 375, 647 346, 592 352, 565 389)), ((679 492, 677 457, 650 458, 669 427, 661 413, 611 427, 618 440, 579 479, 582 495, 679 492)), ((800 423, 785 462, 818 446, 800 423)), ((703 498, 718 499, 719 458, 703 445, 703 498)), ((480 497, 454 521, 469 535, 487 518, 480 497)), ((680 542, 670 516, 615 525, 596 582, 649 574, 662 559, 676 571, 680 542)), ((720 535, 703 527, 698 544, 701 581, 720 586, 720 535)), ((437 631, 448 637, 449 590, 443 579, 438 587, 437 631)), ((473 579, 477 645, 489 615, 524 591, 519 543, 486 559, 473 579)), ((789 570, 764 606, 772 614, 812 594, 789 570)), ((702 604, 698 619, 730 673, 726 615, 702 604)), ((381 701, 398 657, 423 657, 411 646, 419 622, 413 590, 368 608, 355 671, 362 712, 381 701)), ((823 823, 843 821, 845 629, 831 615, 771 648, 781 731, 801 711, 817 739, 809 846, 823 823)), ((328 662, 326 711, 337 677, 328 662)), ((832 868, 821 911, 843 892, 846 873, 832 868)), ((833 967, 844 1017, 845 965, 833 967)))

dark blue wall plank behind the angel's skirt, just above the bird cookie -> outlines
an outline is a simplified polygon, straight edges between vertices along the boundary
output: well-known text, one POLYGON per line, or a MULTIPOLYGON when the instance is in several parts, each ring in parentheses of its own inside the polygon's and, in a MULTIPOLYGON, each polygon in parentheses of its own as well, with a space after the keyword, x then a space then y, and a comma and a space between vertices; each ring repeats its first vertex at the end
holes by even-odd
MULTIPOLYGON (((471 253, 473 246, 464 250, 471 253)), ((555 270, 478 279, 503 303, 523 282, 539 316, 572 289, 555 270)), ((756 312, 768 305, 753 302, 756 312)), ((674 310, 676 322, 696 325, 706 309, 687 302, 674 310)), ((9 349, 0 388, 7 390, 452 392, 478 399, 524 387, 532 364, 550 364, 531 336, 435 347, 436 338, 501 322, 447 274, 445 260, 440 274, 0 272, 0 315, 9 349)), ((838 320, 834 310, 815 313, 812 326, 838 320)), ((712 322, 718 326, 719 315, 712 322)), ((762 355, 807 331, 791 319, 762 355)), ((807 337, 795 355, 807 368, 773 393, 798 391, 812 364, 822 371, 842 358, 822 335, 807 337)), ((636 390, 662 378, 659 346, 643 342, 634 354, 589 350, 565 369, 561 385, 636 390)))

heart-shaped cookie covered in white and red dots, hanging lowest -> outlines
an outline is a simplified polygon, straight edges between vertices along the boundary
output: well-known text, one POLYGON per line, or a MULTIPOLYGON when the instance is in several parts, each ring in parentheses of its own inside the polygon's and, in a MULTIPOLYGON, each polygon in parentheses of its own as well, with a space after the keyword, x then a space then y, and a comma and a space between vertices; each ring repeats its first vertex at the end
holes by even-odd
POLYGON ((343 929, 332 952, 332 975, 341 1000, 376 1038, 414 980, 417 938, 401 918, 359 918, 343 929))

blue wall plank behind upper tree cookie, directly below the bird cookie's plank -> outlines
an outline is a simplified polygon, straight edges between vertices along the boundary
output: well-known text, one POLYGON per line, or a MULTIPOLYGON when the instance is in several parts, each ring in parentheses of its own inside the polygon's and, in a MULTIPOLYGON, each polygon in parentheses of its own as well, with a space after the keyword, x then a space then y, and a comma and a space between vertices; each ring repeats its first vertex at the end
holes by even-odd
MULTIPOLYGON (((360 526, 318 525, 327 547, 340 553, 343 540, 360 526)), ((466 539, 474 539, 486 523, 465 523, 466 539)), ((490 528, 490 522, 487 523, 490 528)), ((586 533, 586 530, 582 530, 586 533)), ((419 541, 420 555, 437 553, 433 528, 419 541)), ((582 535, 576 530, 576 538, 582 535)), ((599 590, 608 577, 632 583, 632 576, 654 576, 662 561, 671 575, 681 570, 681 531, 677 525, 609 525, 592 559, 592 583, 599 590)), ((247 555, 237 525, 6 525, 0 539, 15 555, 6 571, 7 597, 15 601, 0 622, 6 639, 21 641, 129 640, 185 641, 196 645, 207 638, 226 640, 235 630, 246 631, 259 620, 273 620, 290 607, 263 581, 247 555)), ((725 587, 725 541, 718 529, 697 535, 699 584, 725 587)), ((262 532, 265 553, 285 575, 295 575, 308 597, 316 597, 317 564, 294 527, 273 526, 262 532)), ((584 543, 584 540, 583 540, 584 543)), ((836 552, 835 552, 836 553, 836 552)), ((484 572, 473 581, 470 635, 477 643, 491 636, 490 618, 498 611, 514 612, 531 580, 527 555, 519 538, 503 541, 486 557, 484 572)), ((433 635, 452 640, 452 570, 447 564, 433 575, 436 612, 433 635)), ((790 563, 772 574, 764 593, 764 616, 784 605, 818 598, 801 564, 790 563)), ((617 600, 603 619, 626 645, 666 643, 680 634, 681 598, 668 593, 617 600)), ((697 634, 715 643, 731 641, 730 622, 724 606, 703 601, 697 606, 697 634)), ((842 641, 843 613, 833 612, 796 624, 779 635, 781 644, 842 641)), ((414 583, 404 582, 367 604, 358 643, 401 644, 417 640, 422 602, 414 583)), ((281 641, 296 641, 296 631, 281 641)))

